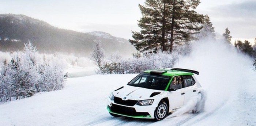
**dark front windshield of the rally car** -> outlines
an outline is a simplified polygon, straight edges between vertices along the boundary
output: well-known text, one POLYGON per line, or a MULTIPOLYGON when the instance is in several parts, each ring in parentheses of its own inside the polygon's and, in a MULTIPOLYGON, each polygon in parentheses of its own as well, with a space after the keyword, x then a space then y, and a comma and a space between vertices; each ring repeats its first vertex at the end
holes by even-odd
POLYGON ((148 89, 165 90, 170 78, 171 77, 169 76, 141 73, 132 79, 132 81, 130 81, 127 85, 148 89))

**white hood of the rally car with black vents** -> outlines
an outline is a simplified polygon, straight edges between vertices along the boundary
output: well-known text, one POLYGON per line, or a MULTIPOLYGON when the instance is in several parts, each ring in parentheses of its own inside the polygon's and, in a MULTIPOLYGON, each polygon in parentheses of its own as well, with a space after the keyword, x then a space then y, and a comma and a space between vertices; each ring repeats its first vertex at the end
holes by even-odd
POLYGON ((161 95, 164 91, 125 85, 124 88, 114 91, 113 95, 123 100, 145 100, 153 99, 155 96, 150 96, 154 92, 159 92, 158 95, 161 95))

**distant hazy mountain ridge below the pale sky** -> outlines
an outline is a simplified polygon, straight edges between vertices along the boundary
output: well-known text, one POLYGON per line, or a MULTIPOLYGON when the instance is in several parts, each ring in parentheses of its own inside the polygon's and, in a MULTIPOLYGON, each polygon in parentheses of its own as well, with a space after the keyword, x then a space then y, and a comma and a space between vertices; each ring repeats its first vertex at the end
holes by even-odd
POLYGON ((0 14, 0 51, 23 50, 29 40, 40 53, 67 52, 89 56, 94 40, 101 40, 106 53, 131 55, 136 49, 127 39, 94 31, 80 33, 60 29, 25 15, 0 14))

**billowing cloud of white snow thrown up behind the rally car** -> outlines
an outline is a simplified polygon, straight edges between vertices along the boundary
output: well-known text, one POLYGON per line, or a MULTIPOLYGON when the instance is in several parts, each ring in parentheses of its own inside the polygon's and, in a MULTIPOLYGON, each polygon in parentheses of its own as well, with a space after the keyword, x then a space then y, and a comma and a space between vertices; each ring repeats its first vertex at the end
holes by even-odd
POLYGON ((178 67, 200 72, 197 79, 207 92, 206 111, 212 111, 245 88, 251 65, 252 59, 234 47, 212 41, 196 43, 190 56, 180 58, 178 67))

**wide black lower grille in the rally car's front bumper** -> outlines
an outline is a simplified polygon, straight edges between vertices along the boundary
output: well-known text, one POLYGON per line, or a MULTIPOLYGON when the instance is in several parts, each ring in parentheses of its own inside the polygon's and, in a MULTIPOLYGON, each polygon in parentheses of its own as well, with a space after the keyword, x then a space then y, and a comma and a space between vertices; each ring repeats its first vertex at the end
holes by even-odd
POLYGON ((149 115, 148 112, 136 112, 135 108, 119 106, 117 104, 112 104, 112 106, 109 108, 112 112, 115 112, 118 114, 123 114, 123 115, 129 115, 129 116, 147 116, 147 115, 149 115))

